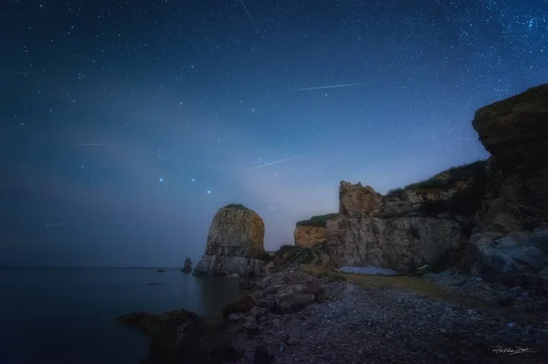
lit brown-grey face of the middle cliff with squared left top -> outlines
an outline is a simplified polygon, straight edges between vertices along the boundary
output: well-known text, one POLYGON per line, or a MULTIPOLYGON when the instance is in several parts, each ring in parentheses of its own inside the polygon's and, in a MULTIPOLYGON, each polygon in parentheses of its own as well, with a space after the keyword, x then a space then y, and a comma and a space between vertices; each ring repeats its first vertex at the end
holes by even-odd
POLYGON ((457 192, 401 192, 381 196, 370 186, 341 182, 339 217, 326 224, 334 265, 378 266, 400 274, 433 265, 463 247, 463 226, 430 204, 447 203, 457 192))

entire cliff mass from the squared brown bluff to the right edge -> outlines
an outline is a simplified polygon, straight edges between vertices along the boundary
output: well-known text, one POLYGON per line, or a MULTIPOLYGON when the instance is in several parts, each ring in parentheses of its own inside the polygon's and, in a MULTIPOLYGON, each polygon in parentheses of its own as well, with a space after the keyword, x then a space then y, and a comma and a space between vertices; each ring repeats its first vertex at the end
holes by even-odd
POLYGON ((544 285, 548 84, 479 109, 472 126, 491 154, 488 161, 386 196, 341 182, 340 215, 325 230, 332 262, 410 273, 452 260, 490 280, 544 285))

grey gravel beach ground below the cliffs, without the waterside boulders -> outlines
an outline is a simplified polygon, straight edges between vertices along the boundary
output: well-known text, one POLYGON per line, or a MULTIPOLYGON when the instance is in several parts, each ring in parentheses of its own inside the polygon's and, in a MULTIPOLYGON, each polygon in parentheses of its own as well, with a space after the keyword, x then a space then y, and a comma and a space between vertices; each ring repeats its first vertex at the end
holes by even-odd
POLYGON ((406 289, 320 282, 331 300, 232 324, 235 346, 244 351, 237 363, 548 362, 548 321, 512 321, 498 307, 462 307, 406 289), (272 361, 254 361, 261 348, 272 361))

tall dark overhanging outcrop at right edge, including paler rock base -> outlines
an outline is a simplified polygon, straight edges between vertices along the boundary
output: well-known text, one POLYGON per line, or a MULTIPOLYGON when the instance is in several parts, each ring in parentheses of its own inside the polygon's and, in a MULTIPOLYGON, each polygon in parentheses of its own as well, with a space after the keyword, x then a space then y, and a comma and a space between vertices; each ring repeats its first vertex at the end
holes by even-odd
POLYGON ((491 156, 466 267, 532 285, 548 266, 548 84, 479 109, 472 126, 491 156))

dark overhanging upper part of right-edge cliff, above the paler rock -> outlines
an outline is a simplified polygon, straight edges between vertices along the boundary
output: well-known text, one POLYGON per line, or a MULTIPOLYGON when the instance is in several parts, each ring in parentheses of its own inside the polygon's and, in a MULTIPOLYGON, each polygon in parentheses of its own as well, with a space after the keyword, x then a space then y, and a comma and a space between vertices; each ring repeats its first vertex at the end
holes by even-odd
POLYGON ((490 152, 483 231, 509 233, 548 222, 548 84, 476 111, 472 126, 490 152))

